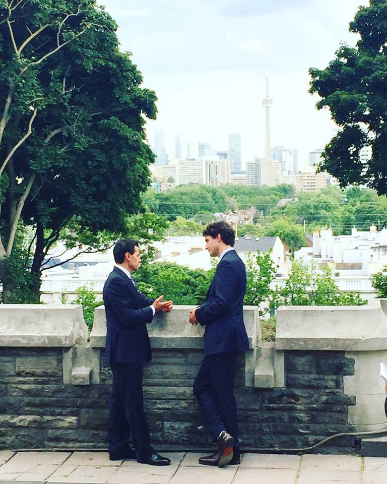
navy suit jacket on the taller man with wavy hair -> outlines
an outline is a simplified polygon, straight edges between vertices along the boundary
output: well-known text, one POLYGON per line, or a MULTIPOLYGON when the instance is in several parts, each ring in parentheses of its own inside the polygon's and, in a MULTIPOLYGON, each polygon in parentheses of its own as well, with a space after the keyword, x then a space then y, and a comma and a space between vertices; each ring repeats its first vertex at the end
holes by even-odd
POLYGON ((233 250, 219 262, 204 305, 196 318, 206 326, 205 356, 227 351, 245 351, 248 338, 243 322, 243 298, 246 292, 246 268, 233 250))

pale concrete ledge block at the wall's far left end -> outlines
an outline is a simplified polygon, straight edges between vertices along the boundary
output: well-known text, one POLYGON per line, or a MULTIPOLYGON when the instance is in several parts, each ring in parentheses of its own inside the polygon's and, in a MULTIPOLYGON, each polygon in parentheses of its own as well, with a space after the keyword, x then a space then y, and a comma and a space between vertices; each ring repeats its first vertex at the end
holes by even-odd
POLYGON ((87 337, 81 305, 0 305, 0 346, 70 347, 87 337))

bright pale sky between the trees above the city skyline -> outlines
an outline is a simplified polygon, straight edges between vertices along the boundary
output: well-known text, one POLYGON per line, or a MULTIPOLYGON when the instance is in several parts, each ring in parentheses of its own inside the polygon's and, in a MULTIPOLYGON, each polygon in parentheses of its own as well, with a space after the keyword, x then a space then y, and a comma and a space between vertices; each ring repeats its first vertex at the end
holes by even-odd
POLYGON ((265 154, 266 64, 269 63, 272 147, 299 152, 324 148, 334 124, 317 111, 308 93, 310 67, 324 69, 367 0, 99 0, 118 24, 121 49, 133 54, 143 87, 158 97, 157 120, 147 123, 150 144, 165 130, 166 151, 174 137, 228 149, 240 133, 242 166, 265 154))

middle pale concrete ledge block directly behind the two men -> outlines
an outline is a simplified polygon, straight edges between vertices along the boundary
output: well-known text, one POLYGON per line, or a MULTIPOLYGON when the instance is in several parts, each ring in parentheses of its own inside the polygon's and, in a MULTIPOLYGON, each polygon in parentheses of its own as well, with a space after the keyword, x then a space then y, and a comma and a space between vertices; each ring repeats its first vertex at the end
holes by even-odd
MULTIPOLYGON (((157 313, 148 333, 152 348, 203 348, 205 328, 192 326, 188 323, 188 314, 192 306, 175 306, 171 313, 157 313)), ((245 306, 243 317, 246 326, 250 349, 261 340, 259 309, 256 306, 245 306)), ((106 341, 106 317, 104 306, 99 306, 94 312, 93 329, 90 334, 90 345, 93 348, 104 348, 106 341)))

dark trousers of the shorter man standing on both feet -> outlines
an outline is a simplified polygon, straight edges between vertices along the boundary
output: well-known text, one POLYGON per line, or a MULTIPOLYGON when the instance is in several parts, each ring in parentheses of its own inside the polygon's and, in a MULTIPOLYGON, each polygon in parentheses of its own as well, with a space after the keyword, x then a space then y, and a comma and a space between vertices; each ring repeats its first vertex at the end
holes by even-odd
POLYGON ((137 459, 154 453, 150 444, 143 402, 143 366, 141 363, 110 363, 113 388, 109 403, 109 454, 120 455, 128 448, 132 433, 137 459))

